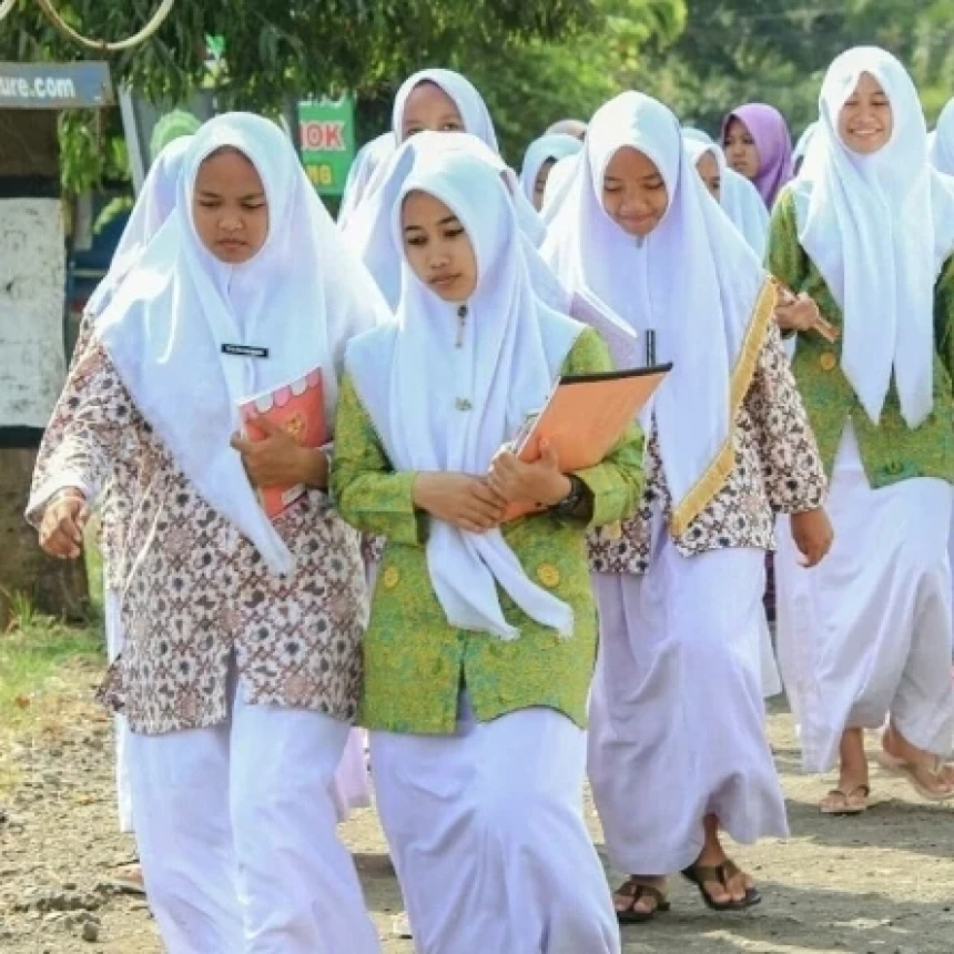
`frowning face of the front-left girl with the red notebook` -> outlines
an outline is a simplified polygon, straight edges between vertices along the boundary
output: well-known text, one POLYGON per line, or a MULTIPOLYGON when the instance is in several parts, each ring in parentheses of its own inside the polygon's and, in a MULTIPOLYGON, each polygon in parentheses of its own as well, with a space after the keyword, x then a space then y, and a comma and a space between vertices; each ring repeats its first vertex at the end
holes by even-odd
POLYGON ((241 265, 268 237, 268 202, 258 171, 235 149, 217 150, 199 166, 192 220, 202 244, 221 262, 241 265))

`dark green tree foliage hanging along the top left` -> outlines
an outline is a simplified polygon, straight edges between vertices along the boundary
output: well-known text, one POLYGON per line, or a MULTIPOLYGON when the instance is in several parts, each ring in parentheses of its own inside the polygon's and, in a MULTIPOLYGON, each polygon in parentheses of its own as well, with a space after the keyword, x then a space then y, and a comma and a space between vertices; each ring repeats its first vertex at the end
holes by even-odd
MULTIPOLYGON (((69 0, 64 19, 87 37, 136 32, 156 0, 69 0)), ((592 0, 179 0, 146 43, 111 58, 113 74, 153 99, 184 99, 205 73, 205 37, 225 38, 223 100, 263 109, 288 95, 374 90, 422 59, 468 48, 552 39, 583 27, 592 0)), ((0 59, 77 60, 34 0, 0 23, 0 59)))

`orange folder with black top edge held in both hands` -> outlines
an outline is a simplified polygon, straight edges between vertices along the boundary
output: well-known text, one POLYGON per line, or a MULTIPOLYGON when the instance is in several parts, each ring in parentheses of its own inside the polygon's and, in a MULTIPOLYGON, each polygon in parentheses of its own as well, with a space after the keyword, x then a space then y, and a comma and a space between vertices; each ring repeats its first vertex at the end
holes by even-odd
MULTIPOLYGON (((527 464, 539 460, 540 442, 548 440, 565 474, 596 467, 671 369, 664 364, 561 377, 540 414, 511 442, 517 457, 527 464)), ((518 501, 507 508, 504 520, 545 509, 542 504, 518 501)))

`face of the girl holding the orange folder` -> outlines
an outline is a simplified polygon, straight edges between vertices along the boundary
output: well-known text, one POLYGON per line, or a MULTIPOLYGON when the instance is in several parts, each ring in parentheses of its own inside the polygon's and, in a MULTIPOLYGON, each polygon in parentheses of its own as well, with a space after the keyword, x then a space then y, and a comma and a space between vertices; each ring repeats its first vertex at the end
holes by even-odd
POLYGON ((410 192, 400 210, 404 254, 415 275, 446 302, 477 287, 477 256, 460 220, 427 192, 410 192))

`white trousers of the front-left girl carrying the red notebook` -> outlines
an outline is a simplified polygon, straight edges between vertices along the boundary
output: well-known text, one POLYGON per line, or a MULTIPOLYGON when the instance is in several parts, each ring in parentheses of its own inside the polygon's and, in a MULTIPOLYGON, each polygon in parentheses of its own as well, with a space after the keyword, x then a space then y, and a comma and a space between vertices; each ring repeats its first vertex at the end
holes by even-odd
POLYGON ((348 727, 248 706, 230 723, 130 733, 135 835, 169 954, 375 954, 332 775, 348 727))

